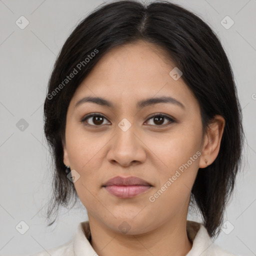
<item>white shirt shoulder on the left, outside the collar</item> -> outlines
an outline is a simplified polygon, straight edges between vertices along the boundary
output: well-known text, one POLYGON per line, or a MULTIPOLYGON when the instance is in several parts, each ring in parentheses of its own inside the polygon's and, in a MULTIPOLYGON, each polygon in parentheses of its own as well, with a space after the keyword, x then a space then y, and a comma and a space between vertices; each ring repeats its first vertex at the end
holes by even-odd
POLYGON ((66 243, 63 243, 57 247, 43 250, 41 252, 37 252, 35 254, 29 255, 29 256, 74 256, 74 250, 73 250, 73 241, 69 240, 66 243))

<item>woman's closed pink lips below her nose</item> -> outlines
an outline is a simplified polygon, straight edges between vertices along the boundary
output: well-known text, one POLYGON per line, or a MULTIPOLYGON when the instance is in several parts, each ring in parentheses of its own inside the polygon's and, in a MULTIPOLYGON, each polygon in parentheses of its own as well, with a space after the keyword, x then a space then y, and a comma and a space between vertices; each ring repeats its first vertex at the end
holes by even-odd
POLYGON ((130 198, 148 190, 152 185, 138 177, 116 176, 104 183, 103 187, 117 197, 130 198))

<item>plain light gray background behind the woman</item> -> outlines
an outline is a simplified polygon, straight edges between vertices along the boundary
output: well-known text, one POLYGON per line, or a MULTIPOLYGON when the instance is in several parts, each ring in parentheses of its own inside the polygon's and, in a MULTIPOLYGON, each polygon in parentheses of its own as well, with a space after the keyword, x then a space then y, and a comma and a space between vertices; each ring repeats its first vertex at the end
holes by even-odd
MULTIPOLYGON (((242 175, 225 214, 229 222, 215 242, 238 255, 256 255, 256 1, 174 2, 217 32, 233 68, 247 142, 242 175), (234 21, 229 29, 221 24, 226 15, 234 21)), ((75 25, 101 3, 0 0, 0 255, 27 255, 58 246, 72 237, 80 221, 87 220, 80 204, 61 209, 57 223, 46 227, 43 214, 51 192, 51 162, 42 110, 56 55, 75 25), (29 21, 24 29, 15 24, 21 15, 29 21), (16 126, 21 118, 28 123, 23 130, 16 126), (15 229, 21 220, 29 226, 24 234, 15 229)), ((188 218, 196 220, 192 212, 188 218)))

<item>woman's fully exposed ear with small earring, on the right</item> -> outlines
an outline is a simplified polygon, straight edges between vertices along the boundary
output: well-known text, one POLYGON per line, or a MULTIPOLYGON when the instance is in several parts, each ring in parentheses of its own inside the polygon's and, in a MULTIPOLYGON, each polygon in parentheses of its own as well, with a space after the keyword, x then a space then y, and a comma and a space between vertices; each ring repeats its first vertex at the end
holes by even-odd
POLYGON ((199 168, 207 167, 216 159, 219 152, 220 141, 223 134, 224 126, 224 117, 221 115, 215 115, 215 118, 209 124, 207 132, 204 135, 199 168), (207 160, 207 163, 205 162, 205 159, 207 160))

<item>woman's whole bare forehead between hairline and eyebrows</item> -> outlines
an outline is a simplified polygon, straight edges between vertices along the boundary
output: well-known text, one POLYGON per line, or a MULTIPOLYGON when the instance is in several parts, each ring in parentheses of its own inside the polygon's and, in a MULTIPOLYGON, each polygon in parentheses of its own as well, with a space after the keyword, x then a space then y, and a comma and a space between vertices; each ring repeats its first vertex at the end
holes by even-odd
POLYGON ((119 45, 100 58, 76 89, 72 101, 87 94, 106 97, 120 104, 124 98, 130 102, 168 95, 192 103, 195 98, 182 77, 174 80, 169 75, 174 67, 164 51, 152 43, 138 41, 119 45))

